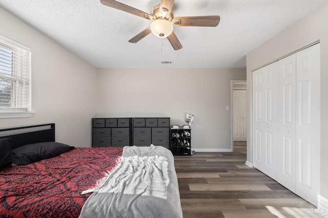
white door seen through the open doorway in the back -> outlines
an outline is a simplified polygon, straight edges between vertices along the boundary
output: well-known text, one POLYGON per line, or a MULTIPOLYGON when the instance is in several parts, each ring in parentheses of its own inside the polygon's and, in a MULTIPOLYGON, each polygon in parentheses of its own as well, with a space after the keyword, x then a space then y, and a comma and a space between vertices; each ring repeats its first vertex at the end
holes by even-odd
POLYGON ((246 141, 246 90, 233 90, 234 141, 246 141))

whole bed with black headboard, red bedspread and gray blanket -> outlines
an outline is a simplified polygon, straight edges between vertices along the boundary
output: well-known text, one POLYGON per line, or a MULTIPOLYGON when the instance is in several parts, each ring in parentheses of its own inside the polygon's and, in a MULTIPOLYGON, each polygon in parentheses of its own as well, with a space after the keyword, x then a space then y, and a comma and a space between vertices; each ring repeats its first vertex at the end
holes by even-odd
POLYGON ((171 152, 74 148, 55 124, 0 130, 0 217, 182 217, 171 152))

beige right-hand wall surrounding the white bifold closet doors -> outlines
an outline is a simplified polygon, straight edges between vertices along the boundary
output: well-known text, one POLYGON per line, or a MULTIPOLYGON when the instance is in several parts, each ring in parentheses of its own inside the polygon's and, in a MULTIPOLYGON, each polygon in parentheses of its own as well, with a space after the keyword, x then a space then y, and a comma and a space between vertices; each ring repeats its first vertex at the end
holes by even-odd
MULTIPOLYGON (((328 209, 328 3, 301 18, 289 28, 263 43, 247 55, 248 114, 252 119, 252 71, 269 62, 293 53, 302 47, 320 40, 321 56, 321 196, 324 208, 328 209)), ((248 129, 252 130, 251 122, 248 129)), ((252 138, 248 131, 247 161, 252 162, 252 138)), ((319 202, 320 203, 320 202, 319 202)), ((327 210, 325 211, 327 212, 327 210)))

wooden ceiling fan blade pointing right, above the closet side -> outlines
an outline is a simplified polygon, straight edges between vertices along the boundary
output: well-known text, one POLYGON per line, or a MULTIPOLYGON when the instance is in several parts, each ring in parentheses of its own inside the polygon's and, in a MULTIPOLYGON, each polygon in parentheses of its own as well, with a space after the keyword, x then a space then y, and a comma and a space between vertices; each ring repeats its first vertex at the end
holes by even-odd
POLYGON ((175 17, 172 21, 177 27, 216 27, 220 16, 175 17))

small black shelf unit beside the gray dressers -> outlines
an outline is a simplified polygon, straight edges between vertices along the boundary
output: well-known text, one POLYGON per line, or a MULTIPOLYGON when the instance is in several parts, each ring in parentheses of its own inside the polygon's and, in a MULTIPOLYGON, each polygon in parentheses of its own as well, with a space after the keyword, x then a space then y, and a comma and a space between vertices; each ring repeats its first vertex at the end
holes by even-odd
POLYGON ((170 129, 170 150, 174 156, 191 156, 191 129, 170 129))

